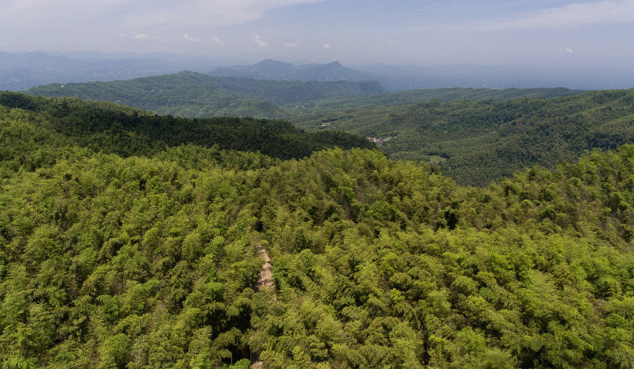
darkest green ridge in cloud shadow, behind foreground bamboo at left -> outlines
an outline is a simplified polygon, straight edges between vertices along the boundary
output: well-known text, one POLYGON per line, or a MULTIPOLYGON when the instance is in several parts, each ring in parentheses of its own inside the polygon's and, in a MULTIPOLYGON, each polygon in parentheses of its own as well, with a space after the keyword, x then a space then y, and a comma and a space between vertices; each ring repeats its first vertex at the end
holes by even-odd
POLYGON ((0 104, 38 112, 32 119, 80 146, 123 156, 150 155, 166 146, 196 144, 219 149, 260 151, 275 158, 302 158, 326 147, 371 147, 344 132, 304 133, 286 121, 221 117, 183 119, 157 116, 102 102, 47 99, 0 93, 0 104))

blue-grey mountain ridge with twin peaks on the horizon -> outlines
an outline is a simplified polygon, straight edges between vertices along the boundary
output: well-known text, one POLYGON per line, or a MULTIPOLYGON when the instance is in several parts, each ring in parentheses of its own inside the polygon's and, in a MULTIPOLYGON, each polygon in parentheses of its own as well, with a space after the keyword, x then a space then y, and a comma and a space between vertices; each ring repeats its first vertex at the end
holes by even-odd
POLYGON ((346 68, 339 61, 295 66, 273 59, 265 59, 252 66, 219 67, 209 74, 223 77, 248 77, 258 80, 363 81, 375 79, 369 73, 346 68))

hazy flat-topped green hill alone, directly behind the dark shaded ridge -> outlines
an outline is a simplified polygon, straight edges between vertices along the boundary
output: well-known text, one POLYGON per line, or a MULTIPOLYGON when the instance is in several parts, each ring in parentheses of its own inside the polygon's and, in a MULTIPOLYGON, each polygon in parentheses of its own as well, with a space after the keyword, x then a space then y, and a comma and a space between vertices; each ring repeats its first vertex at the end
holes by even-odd
POLYGON ((110 101, 188 118, 277 118, 286 114, 278 105, 382 92, 385 89, 374 81, 265 81, 193 72, 125 81, 47 84, 27 91, 31 95, 110 101))

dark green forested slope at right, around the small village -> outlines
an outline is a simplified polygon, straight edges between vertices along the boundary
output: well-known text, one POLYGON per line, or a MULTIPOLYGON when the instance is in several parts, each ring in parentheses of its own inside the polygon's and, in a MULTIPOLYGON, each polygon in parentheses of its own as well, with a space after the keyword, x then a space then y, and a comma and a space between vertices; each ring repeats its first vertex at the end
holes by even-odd
POLYGON ((585 150, 634 143, 634 89, 551 99, 434 100, 315 114, 294 123, 392 137, 384 146, 391 158, 431 160, 458 183, 486 186, 525 167, 554 169, 585 150))

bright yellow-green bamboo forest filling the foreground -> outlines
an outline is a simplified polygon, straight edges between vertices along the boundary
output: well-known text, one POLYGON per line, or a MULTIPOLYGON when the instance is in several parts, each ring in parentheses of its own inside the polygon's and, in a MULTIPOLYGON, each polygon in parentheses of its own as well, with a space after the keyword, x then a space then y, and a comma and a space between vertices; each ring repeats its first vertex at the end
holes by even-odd
POLYGON ((634 146, 464 188, 362 149, 112 149, 134 110, 0 105, 3 369, 634 366, 634 146))

